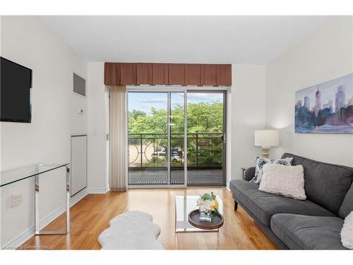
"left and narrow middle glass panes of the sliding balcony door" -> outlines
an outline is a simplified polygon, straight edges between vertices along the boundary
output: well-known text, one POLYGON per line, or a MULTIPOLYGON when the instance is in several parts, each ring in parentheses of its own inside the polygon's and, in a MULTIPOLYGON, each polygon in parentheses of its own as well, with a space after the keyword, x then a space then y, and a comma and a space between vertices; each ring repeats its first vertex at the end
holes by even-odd
POLYGON ((184 179, 184 92, 128 92, 128 184, 184 179))

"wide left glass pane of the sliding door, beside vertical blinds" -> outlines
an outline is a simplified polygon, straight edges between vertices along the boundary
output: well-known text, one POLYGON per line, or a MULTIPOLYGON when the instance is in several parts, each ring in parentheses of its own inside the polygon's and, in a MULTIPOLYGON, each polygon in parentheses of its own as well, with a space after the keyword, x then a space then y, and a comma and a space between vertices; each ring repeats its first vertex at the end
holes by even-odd
POLYGON ((168 184, 167 93, 128 93, 128 184, 168 184))

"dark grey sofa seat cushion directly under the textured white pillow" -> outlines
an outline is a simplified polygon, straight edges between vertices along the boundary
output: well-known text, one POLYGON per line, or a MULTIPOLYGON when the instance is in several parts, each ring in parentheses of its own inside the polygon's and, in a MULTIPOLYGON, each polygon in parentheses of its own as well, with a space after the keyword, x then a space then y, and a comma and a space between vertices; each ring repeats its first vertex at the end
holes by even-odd
POLYGON ((335 216, 334 213, 311 201, 299 201, 284 196, 260 192, 258 184, 235 179, 230 182, 233 198, 251 211, 253 216, 270 227, 275 213, 297 213, 308 216, 335 216))

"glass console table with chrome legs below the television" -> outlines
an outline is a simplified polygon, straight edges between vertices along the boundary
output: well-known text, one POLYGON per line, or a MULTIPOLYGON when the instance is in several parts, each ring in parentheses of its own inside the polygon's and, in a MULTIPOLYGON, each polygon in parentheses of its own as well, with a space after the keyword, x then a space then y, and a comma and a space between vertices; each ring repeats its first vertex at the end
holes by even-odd
POLYGON ((7 170, 0 173, 0 187, 20 182, 23 179, 35 179, 35 235, 66 235, 70 232, 70 163, 61 163, 55 165, 33 164, 25 167, 18 167, 14 170, 7 170), (40 175, 45 172, 66 167, 66 225, 64 231, 41 231, 39 218, 39 195, 40 195, 40 175))

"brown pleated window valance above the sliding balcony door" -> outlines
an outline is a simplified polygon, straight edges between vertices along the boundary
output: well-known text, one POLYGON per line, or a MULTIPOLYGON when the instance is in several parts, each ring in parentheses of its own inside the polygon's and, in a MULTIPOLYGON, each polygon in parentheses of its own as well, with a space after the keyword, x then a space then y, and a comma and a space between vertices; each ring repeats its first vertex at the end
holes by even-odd
POLYGON ((232 86, 232 64, 105 63, 104 84, 232 86))

